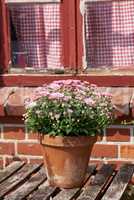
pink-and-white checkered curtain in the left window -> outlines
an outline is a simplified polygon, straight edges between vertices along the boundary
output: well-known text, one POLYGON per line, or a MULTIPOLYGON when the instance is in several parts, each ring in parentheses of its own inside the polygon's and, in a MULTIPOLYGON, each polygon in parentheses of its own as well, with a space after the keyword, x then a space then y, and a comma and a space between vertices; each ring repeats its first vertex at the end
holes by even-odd
POLYGON ((10 13, 17 51, 26 52, 28 67, 61 67, 60 4, 13 5, 10 13))

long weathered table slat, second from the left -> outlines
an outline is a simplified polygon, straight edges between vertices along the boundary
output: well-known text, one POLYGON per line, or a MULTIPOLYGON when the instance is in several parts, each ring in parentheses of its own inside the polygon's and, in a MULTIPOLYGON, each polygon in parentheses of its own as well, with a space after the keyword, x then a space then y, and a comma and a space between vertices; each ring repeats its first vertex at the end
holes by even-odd
POLYGON ((17 171, 13 176, 0 184, 0 198, 12 191, 17 185, 23 183, 33 172, 40 168, 40 164, 27 164, 17 171))

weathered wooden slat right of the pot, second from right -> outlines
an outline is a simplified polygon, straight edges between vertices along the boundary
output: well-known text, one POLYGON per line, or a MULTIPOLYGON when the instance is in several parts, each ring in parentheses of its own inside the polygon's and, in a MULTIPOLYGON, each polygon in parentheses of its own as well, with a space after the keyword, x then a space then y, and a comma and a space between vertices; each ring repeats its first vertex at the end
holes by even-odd
POLYGON ((94 180, 91 183, 89 182, 89 184, 86 184, 78 200, 95 200, 98 198, 104 185, 113 174, 114 169, 114 165, 104 164, 96 174, 94 180))

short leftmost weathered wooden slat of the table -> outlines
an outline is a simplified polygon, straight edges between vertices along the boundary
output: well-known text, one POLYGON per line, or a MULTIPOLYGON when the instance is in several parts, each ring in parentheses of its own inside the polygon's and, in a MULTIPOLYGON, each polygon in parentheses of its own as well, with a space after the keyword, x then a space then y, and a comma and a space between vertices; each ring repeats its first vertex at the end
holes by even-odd
POLYGON ((3 171, 0 172, 0 183, 5 179, 9 178, 12 174, 14 174, 17 170, 19 170, 25 163, 24 162, 13 162, 8 165, 3 171))

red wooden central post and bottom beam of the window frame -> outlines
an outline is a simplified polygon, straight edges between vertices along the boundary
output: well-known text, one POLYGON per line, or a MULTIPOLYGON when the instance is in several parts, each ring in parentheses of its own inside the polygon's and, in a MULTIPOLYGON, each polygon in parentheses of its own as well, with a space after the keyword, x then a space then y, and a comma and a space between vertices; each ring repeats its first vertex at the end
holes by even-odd
MULTIPOLYGON (((3 66, 5 74, 0 75, 0 86, 39 86, 44 82, 68 78, 87 80, 99 86, 134 86, 133 74, 86 74, 83 71, 83 20, 82 15, 80 14, 80 1, 81 0, 61 0, 61 26, 64 30, 64 66, 72 68, 74 73, 63 75, 9 74, 7 73, 7 66, 3 66)), ((6 9, 5 4, 3 5, 4 9, 6 9)), ((5 24, 7 25, 8 23, 5 24)), ((6 25, 3 27, 8 30, 6 25)), ((7 38, 7 44, 8 43, 9 41, 7 38)), ((8 48, 8 45, 6 48, 8 48)), ((5 51, 5 56, 9 56, 8 51, 5 51)))

